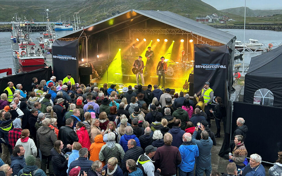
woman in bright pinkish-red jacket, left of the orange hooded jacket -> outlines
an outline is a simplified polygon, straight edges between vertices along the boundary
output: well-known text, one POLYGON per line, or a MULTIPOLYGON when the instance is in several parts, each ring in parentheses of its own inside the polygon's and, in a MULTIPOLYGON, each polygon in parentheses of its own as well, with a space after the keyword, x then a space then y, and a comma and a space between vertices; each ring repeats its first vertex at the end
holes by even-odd
POLYGON ((89 151, 90 148, 90 138, 89 138, 89 134, 85 128, 85 124, 83 124, 82 122, 77 122, 76 124, 76 134, 78 137, 78 142, 81 144, 82 148, 87 148, 89 151))

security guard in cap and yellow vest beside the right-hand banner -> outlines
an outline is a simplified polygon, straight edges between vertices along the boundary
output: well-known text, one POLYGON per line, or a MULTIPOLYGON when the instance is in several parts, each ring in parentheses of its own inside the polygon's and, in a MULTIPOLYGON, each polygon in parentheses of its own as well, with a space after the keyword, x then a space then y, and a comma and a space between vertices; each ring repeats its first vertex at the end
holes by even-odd
POLYGON ((210 104, 214 99, 214 90, 209 87, 209 82, 205 82, 205 86, 202 89, 202 94, 205 102, 205 113, 207 114, 207 122, 209 123, 209 128, 211 127, 211 115, 209 112, 210 104))

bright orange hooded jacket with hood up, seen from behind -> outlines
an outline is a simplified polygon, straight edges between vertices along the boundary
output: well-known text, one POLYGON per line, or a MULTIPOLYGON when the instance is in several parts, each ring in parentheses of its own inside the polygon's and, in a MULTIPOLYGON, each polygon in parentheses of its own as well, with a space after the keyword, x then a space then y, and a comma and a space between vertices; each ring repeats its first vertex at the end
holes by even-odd
MULTIPOLYGON (((103 145, 105 145, 106 142, 103 141, 103 136, 102 134, 98 134, 95 138, 94 138, 94 142, 91 144, 90 146, 90 158, 89 160, 92 161, 97 161, 99 160, 99 152, 102 148, 103 145)), ((103 167, 105 165, 105 161, 102 161, 103 167)))

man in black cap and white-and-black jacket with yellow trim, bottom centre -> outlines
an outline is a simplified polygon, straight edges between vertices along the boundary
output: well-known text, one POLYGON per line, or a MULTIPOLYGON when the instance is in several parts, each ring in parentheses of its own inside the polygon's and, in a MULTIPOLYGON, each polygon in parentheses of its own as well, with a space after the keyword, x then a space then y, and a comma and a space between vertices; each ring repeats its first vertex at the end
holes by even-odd
POLYGON ((161 169, 157 169, 155 171, 155 166, 153 163, 155 163, 154 160, 152 160, 152 157, 155 155, 157 151, 157 147, 153 147, 152 145, 149 145, 145 148, 145 153, 142 154, 138 160, 137 160, 137 166, 143 171, 143 175, 147 176, 159 176, 161 169))

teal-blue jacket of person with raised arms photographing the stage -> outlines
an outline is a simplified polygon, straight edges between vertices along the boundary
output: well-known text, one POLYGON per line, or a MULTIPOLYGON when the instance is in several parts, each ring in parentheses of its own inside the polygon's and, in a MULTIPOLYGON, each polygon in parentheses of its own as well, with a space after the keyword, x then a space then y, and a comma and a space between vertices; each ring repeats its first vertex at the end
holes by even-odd
POLYGON ((212 139, 209 137, 207 140, 196 140, 198 131, 194 131, 192 142, 197 144, 199 148, 199 157, 196 158, 196 164, 201 167, 212 166, 212 139))

